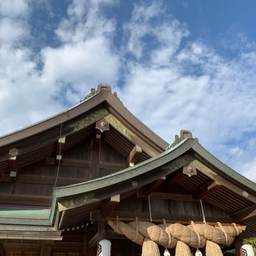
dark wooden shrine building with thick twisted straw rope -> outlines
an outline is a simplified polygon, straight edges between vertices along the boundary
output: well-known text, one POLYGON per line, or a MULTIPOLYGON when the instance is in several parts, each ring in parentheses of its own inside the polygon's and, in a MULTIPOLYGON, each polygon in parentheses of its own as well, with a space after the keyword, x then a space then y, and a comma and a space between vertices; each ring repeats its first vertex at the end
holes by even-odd
POLYGON ((253 236, 256 184, 107 85, 0 137, 0 256, 240 255, 253 236))

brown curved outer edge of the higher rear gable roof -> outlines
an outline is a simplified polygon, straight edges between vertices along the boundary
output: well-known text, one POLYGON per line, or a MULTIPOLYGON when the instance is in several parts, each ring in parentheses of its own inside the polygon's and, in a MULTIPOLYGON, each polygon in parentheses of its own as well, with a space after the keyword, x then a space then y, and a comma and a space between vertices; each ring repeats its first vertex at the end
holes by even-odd
POLYGON ((81 101, 81 103, 78 105, 44 119, 43 121, 27 126, 26 128, 22 128, 21 130, 3 135, 0 137, 0 147, 12 144, 13 142, 21 141, 38 133, 45 132, 46 130, 58 126, 61 123, 65 123, 74 117, 78 117, 78 115, 89 112, 93 108, 98 107, 103 103, 107 103, 108 107, 110 108, 110 112, 114 112, 114 114, 123 117, 123 119, 125 119, 138 133, 146 136, 149 141, 152 141, 160 149, 166 149, 168 146, 167 142, 161 139, 156 133, 151 131, 146 125, 139 121, 137 117, 135 117, 129 110, 127 110, 127 108, 123 106, 123 103, 121 103, 109 89, 100 90, 98 93, 94 94, 94 96, 81 101))

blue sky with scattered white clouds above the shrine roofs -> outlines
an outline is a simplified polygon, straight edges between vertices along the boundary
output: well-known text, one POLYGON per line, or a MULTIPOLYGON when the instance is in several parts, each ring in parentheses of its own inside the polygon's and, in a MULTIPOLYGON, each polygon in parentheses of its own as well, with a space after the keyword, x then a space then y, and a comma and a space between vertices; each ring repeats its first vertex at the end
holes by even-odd
POLYGON ((255 1, 1 0, 0 134, 105 83, 171 142, 256 180, 255 1))

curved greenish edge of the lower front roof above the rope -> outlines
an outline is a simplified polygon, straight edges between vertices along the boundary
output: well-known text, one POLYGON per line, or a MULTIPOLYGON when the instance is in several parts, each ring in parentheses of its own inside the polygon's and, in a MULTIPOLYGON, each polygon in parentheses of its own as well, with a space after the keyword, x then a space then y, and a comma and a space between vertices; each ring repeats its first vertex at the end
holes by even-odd
POLYGON ((121 182, 133 180, 137 176, 143 175, 149 171, 152 171, 153 169, 156 169, 157 167, 168 164, 169 162, 181 157, 183 154, 191 150, 194 153, 195 158, 199 157, 200 160, 203 160, 203 162, 209 164, 222 176, 226 176, 226 178, 233 180, 233 182, 237 183, 237 185, 240 187, 243 187, 248 191, 252 191, 253 194, 256 194, 256 183, 248 180, 243 175, 240 175, 230 167, 223 164, 223 162, 219 161, 216 157, 210 154, 209 151, 203 148, 203 146, 201 146, 195 139, 185 139, 172 148, 160 153, 156 157, 149 158, 140 164, 128 167, 112 175, 107 175, 96 180, 90 180, 89 182, 55 188, 53 191, 53 200, 49 219, 40 220, 40 225, 49 225, 49 223, 53 224, 57 203, 62 198, 68 198, 69 196, 76 196, 78 194, 87 194, 103 187, 111 187, 121 182))

